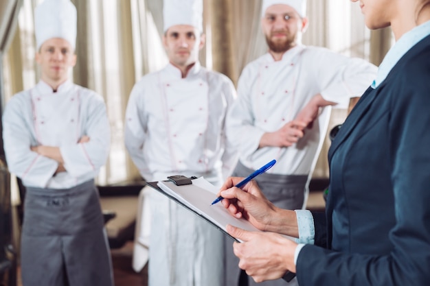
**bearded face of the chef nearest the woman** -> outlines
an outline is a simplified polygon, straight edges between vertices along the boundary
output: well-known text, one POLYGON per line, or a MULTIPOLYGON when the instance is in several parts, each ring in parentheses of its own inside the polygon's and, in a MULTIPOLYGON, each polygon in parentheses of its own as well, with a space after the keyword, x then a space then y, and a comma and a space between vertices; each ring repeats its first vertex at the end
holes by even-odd
POLYGON ((302 40, 307 23, 294 8, 284 4, 269 6, 261 21, 267 45, 275 53, 295 47, 302 40))

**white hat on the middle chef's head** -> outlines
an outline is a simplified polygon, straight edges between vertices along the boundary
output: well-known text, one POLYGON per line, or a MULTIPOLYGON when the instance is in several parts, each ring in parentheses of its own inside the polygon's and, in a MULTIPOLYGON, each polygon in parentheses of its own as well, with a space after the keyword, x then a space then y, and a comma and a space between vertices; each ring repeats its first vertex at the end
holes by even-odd
POLYGON ((203 32, 203 0, 164 0, 164 32, 174 25, 190 25, 203 32))

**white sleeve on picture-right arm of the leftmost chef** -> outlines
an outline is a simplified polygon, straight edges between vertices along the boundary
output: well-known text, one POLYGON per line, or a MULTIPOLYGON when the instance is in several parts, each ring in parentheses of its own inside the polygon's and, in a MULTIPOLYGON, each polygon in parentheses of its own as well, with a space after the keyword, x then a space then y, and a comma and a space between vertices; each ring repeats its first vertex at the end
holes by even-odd
POLYGON ((106 163, 111 143, 109 119, 102 97, 91 95, 84 108, 87 114, 84 135, 89 136, 89 142, 60 147, 64 167, 74 177, 97 172, 106 163))

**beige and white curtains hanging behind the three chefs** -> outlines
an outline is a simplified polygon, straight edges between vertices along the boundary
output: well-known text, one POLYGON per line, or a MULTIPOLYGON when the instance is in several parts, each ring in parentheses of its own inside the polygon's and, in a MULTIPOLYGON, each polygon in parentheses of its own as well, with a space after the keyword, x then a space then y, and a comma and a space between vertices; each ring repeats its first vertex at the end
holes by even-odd
MULTIPOLYGON (((4 103, 14 93, 31 88, 38 81, 34 63, 34 7, 42 0, 1 1, 8 11, 17 13, 19 29, 8 31, 10 48, 3 50, 4 103), (13 4, 15 3, 15 4, 13 4), (11 9, 10 7, 14 7, 11 9)), ((237 82, 245 64, 267 51, 261 32, 262 0, 203 0, 204 30, 207 44, 200 60, 210 69, 225 73, 237 82)), ((124 147, 124 110, 133 84, 146 73, 161 69, 167 62, 161 44, 163 1, 161 0, 72 0, 78 10, 78 62, 73 69, 77 84, 97 91, 106 101, 111 122, 111 154, 100 172, 100 184, 139 179, 139 174, 124 147)), ((348 56, 378 64, 392 45, 389 29, 365 29, 357 3, 348 0, 308 0, 310 23, 304 34, 305 45, 328 47, 348 56), (342 23, 342 25, 339 25, 342 23)), ((3 23, 3 16, 1 23, 3 23)), ((16 16, 15 16, 16 19, 16 16)), ((8 22, 7 22, 8 23, 8 22)), ((3 34, 1 43, 3 42, 3 34)), ((346 110, 333 110, 330 126, 341 123, 346 110)), ((330 128, 330 127, 329 127, 330 128)), ((328 141, 328 139, 327 139, 328 141)), ((328 176, 326 151, 321 152, 315 176, 328 176)))

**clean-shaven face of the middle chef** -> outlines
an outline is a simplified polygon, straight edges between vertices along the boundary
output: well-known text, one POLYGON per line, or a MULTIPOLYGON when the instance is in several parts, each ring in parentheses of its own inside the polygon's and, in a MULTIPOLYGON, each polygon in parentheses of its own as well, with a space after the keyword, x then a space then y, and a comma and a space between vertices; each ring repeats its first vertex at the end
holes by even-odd
POLYGON ((199 59, 205 37, 193 26, 174 25, 163 36, 168 58, 177 67, 188 67, 199 59))

